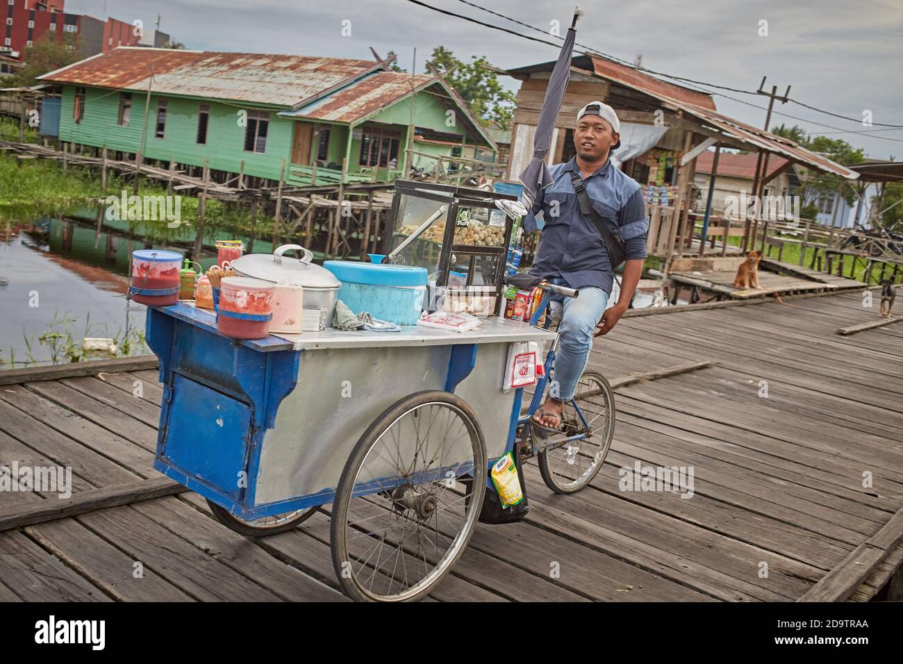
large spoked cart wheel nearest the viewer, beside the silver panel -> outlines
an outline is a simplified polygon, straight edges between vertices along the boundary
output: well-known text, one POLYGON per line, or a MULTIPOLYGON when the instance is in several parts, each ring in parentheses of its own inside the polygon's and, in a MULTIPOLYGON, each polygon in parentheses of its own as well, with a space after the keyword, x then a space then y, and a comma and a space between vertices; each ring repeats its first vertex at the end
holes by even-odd
POLYGON ((345 593, 371 602, 429 594, 467 547, 486 474, 482 430, 460 397, 431 390, 386 408, 332 503, 332 564, 345 593))

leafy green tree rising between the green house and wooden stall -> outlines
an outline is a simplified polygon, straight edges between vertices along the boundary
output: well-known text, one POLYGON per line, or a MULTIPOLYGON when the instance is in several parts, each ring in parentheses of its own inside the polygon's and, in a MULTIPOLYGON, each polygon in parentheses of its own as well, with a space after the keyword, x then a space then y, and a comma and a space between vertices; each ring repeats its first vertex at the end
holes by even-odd
POLYGON ((470 60, 460 61, 452 51, 436 46, 429 63, 440 74, 451 71, 445 80, 483 124, 494 122, 503 129, 509 128, 514 118, 514 95, 498 82, 498 74, 488 69, 489 61, 484 56, 472 55, 470 60))

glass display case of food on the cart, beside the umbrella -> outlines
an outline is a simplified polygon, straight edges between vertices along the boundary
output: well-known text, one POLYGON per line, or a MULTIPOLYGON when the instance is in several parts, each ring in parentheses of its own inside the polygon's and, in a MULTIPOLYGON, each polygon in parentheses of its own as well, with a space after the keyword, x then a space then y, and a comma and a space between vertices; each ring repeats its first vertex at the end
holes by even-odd
POLYGON ((383 252, 396 265, 424 267, 431 287, 444 294, 482 298, 475 304, 479 313, 498 314, 514 224, 496 206, 499 200, 517 201, 517 196, 436 182, 396 181, 392 232, 386 233, 383 252))

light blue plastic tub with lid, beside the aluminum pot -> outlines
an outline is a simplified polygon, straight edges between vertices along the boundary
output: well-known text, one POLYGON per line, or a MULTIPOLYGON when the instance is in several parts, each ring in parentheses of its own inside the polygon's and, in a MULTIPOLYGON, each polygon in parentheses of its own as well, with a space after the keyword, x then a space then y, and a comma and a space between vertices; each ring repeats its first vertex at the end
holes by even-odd
POLYGON ((398 325, 414 325, 420 318, 427 279, 423 267, 349 260, 327 260, 323 267, 341 282, 339 299, 352 312, 369 312, 398 325))

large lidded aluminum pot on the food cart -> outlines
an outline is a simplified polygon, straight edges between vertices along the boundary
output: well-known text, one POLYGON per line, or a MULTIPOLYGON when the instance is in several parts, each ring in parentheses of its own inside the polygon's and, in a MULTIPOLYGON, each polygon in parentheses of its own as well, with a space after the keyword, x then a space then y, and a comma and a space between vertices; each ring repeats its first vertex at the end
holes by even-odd
POLYGON ((326 268, 314 265, 312 258, 312 252, 301 245, 283 245, 272 254, 245 254, 233 260, 231 265, 241 276, 264 279, 275 284, 303 286, 304 308, 325 309, 326 326, 330 327, 341 282, 326 268), (283 256, 292 249, 300 251, 302 256, 283 256))

